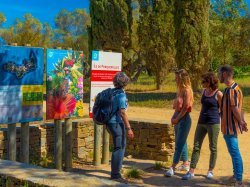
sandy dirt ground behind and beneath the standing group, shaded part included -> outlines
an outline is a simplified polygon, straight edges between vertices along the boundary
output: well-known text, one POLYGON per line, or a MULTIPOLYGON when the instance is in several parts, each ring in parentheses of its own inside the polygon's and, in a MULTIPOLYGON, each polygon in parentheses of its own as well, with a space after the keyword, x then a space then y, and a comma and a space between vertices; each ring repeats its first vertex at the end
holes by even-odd
MULTIPOLYGON (((86 106, 87 108, 87 106, 86 106)), ((140 118, 140 119, 156 119, 170 121, 173 111, 170 109, 155 109, 155 108, 141 108, 141 107, 129 107, 128 117, 140 118)), ((191 113, 192 127, 188 136, 188 146, 193 148, 194 133, 199 116, 198 110, 193 110, 191 113)), ((246 122, 250 124, 250 114, 245 116, 246 122)), ((244 162, 244 182, 246 186, 250 186, 250 132, 244 133, 239 136, 239 146, 244 162)), ((191 151, 190 151, 191 152, 191 151)), ((208 137, 205 138, 201 150, 200 160, 196 169, 196 177, 191 181, 182 181, 181 177, 185 173, 177 173, 172 178, 163 177, 163 171, 157 171, 153 169, 146 170, 143 175, 143 179, 139 182, 141 186, 224 186, 228 177, 232 176, 232 161, 228 154, 225 141, 222 134, 219 135, 218 140, 218 158, 216 168, 214 170, 215 179, 207 180, 205 178, 208 165, 209 165, 209 146, 208 137)), ((189 155, 189 158, 191 155, 189 155)), ((154 165, 154 161, 151 162, 151 166, 154 165)), ((105 171, 110 171, 110 166, 102 168, 105 171)), ((105 176, 108 177, 108 172, 105 176)))

